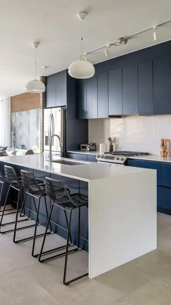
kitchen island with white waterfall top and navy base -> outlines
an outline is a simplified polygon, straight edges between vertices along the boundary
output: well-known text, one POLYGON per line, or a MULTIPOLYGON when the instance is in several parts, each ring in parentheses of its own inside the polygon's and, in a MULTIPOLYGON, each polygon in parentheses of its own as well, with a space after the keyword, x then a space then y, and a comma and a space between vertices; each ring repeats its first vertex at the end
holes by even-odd
MULTIPOLYGON (((89 278, 156 249, 156 170, 53 158, 49 162, 44 155, 0 157, 0 170, 5 164, 30 170, 42 180, 61 180, 71 193, 88 195, 88 209, 81 208, 80 246, 89 252, 89 278)), ((48 204, 50 208, 50 199, 48 204)), ((45 211, 40 213, 45 225, 45 211)), ((52 217, 66 225, 61 211, 52 217)), ((62 228, 54 225, 53 231, 66 239, 62 228)), ((71 234, 75 243, 77 223, 71 234)))

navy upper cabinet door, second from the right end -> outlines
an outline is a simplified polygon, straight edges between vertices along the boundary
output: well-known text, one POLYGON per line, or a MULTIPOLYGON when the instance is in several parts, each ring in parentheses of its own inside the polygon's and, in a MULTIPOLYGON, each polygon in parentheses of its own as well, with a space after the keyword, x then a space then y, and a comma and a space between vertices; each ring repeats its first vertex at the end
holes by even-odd
POLYGON ((153 63, 138 64, 138 111, 139 115, 153 114, 153 63))

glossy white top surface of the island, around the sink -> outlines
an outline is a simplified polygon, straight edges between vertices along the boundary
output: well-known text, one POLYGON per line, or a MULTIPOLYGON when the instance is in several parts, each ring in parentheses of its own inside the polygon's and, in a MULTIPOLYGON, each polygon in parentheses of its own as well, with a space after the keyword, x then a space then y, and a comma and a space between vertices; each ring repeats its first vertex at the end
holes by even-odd
POLYGON ((71 166, 49 162, 46 155, 0 157, 0 162, 15 164, 21 167, 27 167, 36 170, 42 170, 44 172, 50 172, 53 174, 58 174, 87 182, 94 179, 116 177, 120 175, 134 174, 151 170, 118 164, 71 160, 57 156, 53 156, 53 160, 67 160, 69 162, 77 162, 79 165, 71 166))

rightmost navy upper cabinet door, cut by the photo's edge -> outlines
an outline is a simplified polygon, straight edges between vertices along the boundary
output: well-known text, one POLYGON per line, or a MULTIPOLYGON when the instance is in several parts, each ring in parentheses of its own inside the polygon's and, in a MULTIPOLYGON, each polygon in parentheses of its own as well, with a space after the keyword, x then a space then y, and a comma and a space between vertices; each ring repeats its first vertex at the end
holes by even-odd
POLYGON ((171 56, 153 60, 154 114, 171 114, 171 56))

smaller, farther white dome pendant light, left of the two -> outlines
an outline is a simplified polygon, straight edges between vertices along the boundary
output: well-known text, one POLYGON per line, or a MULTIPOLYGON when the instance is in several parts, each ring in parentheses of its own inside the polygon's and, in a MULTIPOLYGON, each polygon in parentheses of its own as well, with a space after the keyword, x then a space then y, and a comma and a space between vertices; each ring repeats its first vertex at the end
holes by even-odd
POLYGON ((29 81, 26 84, 26 88, 25 88, 25 90, 30 93, 42 93, 42 92, 45 92, 45 89, 46 89, 45 84, 42 83, 42 81, 38 81, 36 79, 36 77, 37 77, 36 49, 37 49, 38 45, 39 45, 38 42, 32 43, 32 46, 35 49, 35 79, 33 81, 29 81))

